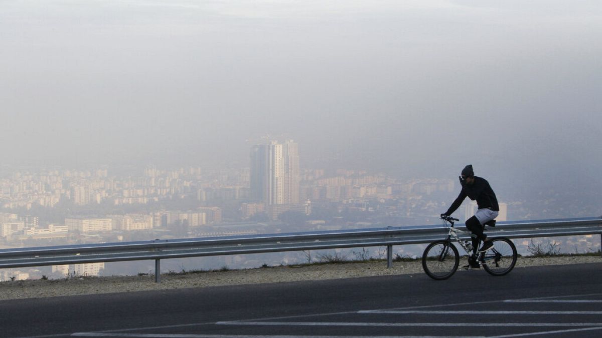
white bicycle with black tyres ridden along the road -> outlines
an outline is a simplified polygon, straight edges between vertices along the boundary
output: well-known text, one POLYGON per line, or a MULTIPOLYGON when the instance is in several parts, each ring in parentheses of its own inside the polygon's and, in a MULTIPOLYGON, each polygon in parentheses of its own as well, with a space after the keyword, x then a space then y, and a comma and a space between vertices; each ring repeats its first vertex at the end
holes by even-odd
MULTIPOLYGON (((469 235, 471 238, 476 238, 476 235, 456 229, 454 222, 459 221, 457 218, 447 216, 441 219, 445 230, 448 230, 447 238, 430 243, 422 255, 422 267, 430 278, 445 280, 458 270, 460 256, 458 248, 453 244, 454 241, 466 251, 469 264, 477 262, 494 276, 503 276, 512 271, 517 263, 517 248, 510 239, 505 237, 491 239, 493 248, 484 253, 477 253, 476 250, 473 251, 470 239, 463 241, 458 237, 458 234, 469 235)), ((478 245, 481 245, 480 240, 478 245)))

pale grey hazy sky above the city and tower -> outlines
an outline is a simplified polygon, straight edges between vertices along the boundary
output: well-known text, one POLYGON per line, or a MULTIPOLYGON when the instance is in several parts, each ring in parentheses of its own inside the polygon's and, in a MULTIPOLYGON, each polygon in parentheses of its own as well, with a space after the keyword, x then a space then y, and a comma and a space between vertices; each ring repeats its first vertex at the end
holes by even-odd
POLYGON ((597 0, 2 0, 0 153, 600 183, 600 55, 597 0))

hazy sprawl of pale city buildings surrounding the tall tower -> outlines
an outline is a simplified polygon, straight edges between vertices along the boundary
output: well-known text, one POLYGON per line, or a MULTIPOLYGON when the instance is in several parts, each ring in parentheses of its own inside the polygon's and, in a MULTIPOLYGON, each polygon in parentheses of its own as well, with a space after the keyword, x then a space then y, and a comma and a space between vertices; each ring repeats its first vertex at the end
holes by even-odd
MULTIPOLYGON (((275 148, 284 146, 270 142, 264 149, 276 145, 281 147, 275 148)), ((262 159, 268 162, 267 156, 262 159)), ((284 161, 284 156, 281 160, 284 161)), ((214 170, 148 167, 134 176, 116 176, 110 168, 15 171, 9 179, 0 179, 0 247, 436 224, 438 214, 447 208, 459 189, 453 179, 400 180, 369 171, 329 173, 324 169, 303 168, 300 176, 299 195, 306 203, 291 207, 257 203, 252 197, 249 167, 214 170)), ((548 193, 535 200, 498 195, 500 221, 591 217, 599 210, 595 201, 600 194, 590 201, 576 199, 563 205, 556 199, 559 191, 548 193)), ((474 203, 465 201, 455 216, 463 221, 473 214, 474 207, 474 203)), ((524 251, 531 244, 522 241, 517 245, 524 251)), ((592 236, 569 238, 559 250, 587 252, 592 245, 597 245, 592 236)), ((414 254, 408 248, 399 250, 402 255, 414 254)), ((275 259, 282 258, 275 256, 275 259)), ((291 253, 286 259, 294 262, 302 258, 299 253, 291 253)), ((170 265, 179 264, 176 261, 170 265)), ((256 264, 255 260, 243 257, 237 257, 235 262, 225 258, 203 262, 203 268, 206 265, 219 268, 225 262, 237 267, 256 264)), ((196 266, 198 262, 187 260, 187 264, 196 266)), ((138 265, 52 266, 45 272, 3 271, 0 278, 40 278, 44 273, 52 278, 78 273, 132 273, 135 266, 138 265)))

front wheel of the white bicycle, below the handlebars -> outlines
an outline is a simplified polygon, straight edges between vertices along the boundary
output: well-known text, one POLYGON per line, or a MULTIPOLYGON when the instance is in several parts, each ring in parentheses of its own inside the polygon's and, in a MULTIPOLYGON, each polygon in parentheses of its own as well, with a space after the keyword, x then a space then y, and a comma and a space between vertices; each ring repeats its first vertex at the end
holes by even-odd
POLYGON ((422 268, 430 278, 444 280, 458 270, 460 256, 451 241, 442 239, 429 244, 422 255, 422 268))

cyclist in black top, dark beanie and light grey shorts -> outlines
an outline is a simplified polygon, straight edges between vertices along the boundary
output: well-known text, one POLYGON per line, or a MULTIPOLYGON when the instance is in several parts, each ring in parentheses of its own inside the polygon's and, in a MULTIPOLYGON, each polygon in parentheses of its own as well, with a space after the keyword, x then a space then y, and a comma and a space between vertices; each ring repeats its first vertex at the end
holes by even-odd
MULTIPOLYGON (((483 241, 483 246, 479 249, 479 252, 485 252, 493 247, 493 243, 488 241, 487 236, 483 233, 485 225, 495 225, 495 217, 497 217, 500 211, 500 206, 497 203, 495 192, 491 189, 489 182, 482 177, 474 176, 473 165, 469 164, 462 170, 462 176, 459 177, 462 190, 453 201, 452 206, 447 209, 441 217, 448 217, 458 209, 464 198, 468 197, 471 200, 477 200, 477 206, 479 210, 474 214, 473 217, 468 218, 466 221, 466 227, 470 232, 477 235, 477 238, 473 238, 473 250, 476 253, 477 245, 479 245, 479 239, 483 241)), ((471 257, 468 258, 468 265, 464 266, 465 269, 480 268, 478 262, 473 262, 471 257)))

